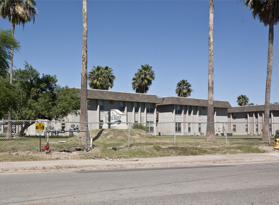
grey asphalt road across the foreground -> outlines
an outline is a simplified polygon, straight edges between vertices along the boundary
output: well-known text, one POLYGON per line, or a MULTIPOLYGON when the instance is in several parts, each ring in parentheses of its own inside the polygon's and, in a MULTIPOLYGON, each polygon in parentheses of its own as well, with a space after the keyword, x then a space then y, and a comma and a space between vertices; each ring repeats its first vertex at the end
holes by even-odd
POLYGON ((0 204, 279 204, 279 162, 0 174, 0 204))

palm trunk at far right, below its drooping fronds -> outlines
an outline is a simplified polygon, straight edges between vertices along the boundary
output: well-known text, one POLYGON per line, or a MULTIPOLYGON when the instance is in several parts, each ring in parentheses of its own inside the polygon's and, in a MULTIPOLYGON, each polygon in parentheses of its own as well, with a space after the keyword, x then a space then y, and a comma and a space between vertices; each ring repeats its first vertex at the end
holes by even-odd
POLYGON ((270 87, 271 87, 271 73, 272 73, 272 60, 273 60, 273 23, 269 24, 268 32, 268 54, 267 54, 267 74, 266 74, 266 88, 265 88, 265 103, 264 103, 264 125, 262 141, 268 142, 269 127, 269 108, 270 108, 270 87))

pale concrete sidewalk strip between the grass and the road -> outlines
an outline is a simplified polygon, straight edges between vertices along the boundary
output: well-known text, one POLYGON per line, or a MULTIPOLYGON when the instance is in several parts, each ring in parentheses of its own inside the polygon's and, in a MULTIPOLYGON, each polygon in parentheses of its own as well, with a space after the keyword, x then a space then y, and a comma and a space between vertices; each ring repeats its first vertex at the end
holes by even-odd
POLYGON ((140 158, 138 161, 103 161, 85 160, 53 160, 0 162, 0 173, 40 172, 40 171, 76 171, 99 169, 125 169, 144 167, 174 167, 205 164, 228 164, 279 161, 279 153, 265 154, 230 154, 140 158))

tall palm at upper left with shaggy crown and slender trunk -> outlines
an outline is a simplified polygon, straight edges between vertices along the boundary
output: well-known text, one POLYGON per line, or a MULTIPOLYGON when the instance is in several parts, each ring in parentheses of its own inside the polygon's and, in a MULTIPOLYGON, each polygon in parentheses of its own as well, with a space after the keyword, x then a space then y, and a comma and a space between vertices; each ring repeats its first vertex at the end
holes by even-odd
MULTIPOLYGON (((12 24, 13 37, 15 36, 15 25, 22 25, 35 21, 35 15, 38 15, 36 3, 34 0, 0 0, 0 17, 8 19, 12 24)), ((11 49, 11 71, 10 71, 10 84, 13 83, 13 56, 14 48, 11 49)), ((12 109, 8 112, 8 120, 12 120, 12 109)), ((11 121, 8 122, 7 136, 12 137, 11 121)))

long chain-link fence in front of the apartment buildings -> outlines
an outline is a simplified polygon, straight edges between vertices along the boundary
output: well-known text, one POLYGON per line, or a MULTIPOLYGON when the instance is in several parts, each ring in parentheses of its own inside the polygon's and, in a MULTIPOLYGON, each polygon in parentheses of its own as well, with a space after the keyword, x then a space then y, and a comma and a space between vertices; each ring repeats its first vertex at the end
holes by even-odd
POLYGON ((80 125, 80 122, 0 120, 0 152, 40 152, 46 145, 57 151, 84 151, 87 148, 98 153, 116 149, 139 152, 154 146, 269 146, 274 145, 274 136, 279 134, 279 123, 88 122, 88 132, 79 132, 80 125), (268 136, 262 140, 264 126, 268 136), (207 129, 212 130, 216 142, 206 142, 207 129), (78 141, 80 135, 83 137, 78 141))

